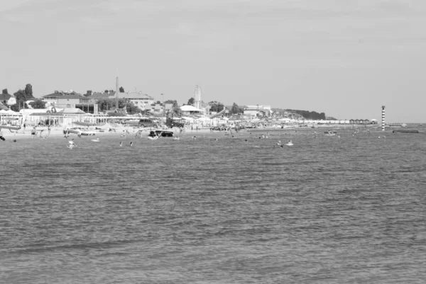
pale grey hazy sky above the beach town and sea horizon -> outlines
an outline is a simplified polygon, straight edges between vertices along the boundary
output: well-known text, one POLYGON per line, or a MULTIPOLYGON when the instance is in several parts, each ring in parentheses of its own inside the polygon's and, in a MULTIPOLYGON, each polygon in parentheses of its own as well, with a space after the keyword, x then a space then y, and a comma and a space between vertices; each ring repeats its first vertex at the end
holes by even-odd
POLYGON ((424 0, 1 0, 0 89, 426 123, 424 0))

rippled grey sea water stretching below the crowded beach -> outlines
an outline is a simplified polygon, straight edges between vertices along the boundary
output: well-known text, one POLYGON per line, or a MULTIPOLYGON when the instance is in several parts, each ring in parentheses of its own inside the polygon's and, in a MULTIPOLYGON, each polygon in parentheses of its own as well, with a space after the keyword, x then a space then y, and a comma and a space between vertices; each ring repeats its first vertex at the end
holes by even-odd
POLYGON ((0 143, 0 283, 426 279, 421 133, 99 138, 0 143))

